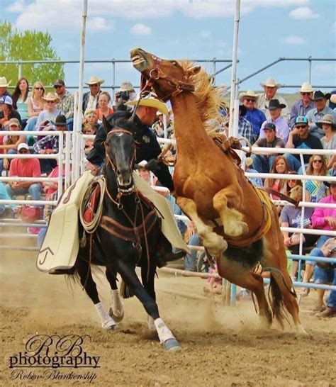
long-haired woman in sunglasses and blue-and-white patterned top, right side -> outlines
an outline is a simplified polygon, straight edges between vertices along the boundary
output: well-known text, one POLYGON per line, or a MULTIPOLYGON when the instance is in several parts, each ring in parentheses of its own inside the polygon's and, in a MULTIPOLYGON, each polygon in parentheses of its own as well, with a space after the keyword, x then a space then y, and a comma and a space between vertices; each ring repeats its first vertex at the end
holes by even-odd
MULTIPOLYGON (((306 169, 306 173, 311 176, 325 176, 327 174, 327 159, 320 155, 311 155, 306 169)), ((327 186, 320 180, 307 180, 306 191, 308 201, 314 203, 325 198, 328 194, 327 186)))

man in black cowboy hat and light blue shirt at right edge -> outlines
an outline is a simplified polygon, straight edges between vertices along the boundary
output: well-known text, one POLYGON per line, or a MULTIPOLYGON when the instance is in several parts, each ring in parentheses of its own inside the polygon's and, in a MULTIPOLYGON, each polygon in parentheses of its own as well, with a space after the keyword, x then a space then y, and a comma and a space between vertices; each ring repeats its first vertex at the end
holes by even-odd
POLYGON ((316 90, 313 98, 311 99, 315 103, 315 108, 308 111, 306 117, 310 125, 309 133, 315 135, 318 138, 323 138, 324 133, 321 128, 318 128, 316 123, 323 119, 326 114, 332 114, 336 118, 336 112, 327 106, 327 100, 330 99, 330 93, 323 94, 322 91, 316 90))

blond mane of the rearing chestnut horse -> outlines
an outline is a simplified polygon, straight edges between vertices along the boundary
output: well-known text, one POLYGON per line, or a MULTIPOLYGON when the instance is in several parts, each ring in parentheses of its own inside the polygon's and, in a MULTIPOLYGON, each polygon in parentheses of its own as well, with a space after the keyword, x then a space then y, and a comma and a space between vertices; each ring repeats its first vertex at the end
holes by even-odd
MULTIPOLYGON (((188 60, 180 61, 179 64, 185 73, 196 65, 195 62, 188 60)), ((189 76, 187 82, 195 86, 196 106, 204 128, 207 132, 218 130, 219 125, 223 123, 220 109, 227 111, 223 96, 225 87, 215 87, 213 78, 209 76, 203 67, 197 74, 189 76)))

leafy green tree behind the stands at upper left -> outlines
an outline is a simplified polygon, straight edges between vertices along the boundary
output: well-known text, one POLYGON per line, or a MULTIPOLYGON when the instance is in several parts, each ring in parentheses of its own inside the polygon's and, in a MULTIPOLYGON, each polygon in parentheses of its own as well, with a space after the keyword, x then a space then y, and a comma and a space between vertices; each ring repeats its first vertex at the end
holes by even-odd
MULTIPOLYGON (((60 60, 51 43, 50 33, 19 32, 11 23, 0 23, 0 61, 60 60)), ((50 85, 55 79, 64 79, 65 73, 62 63, 21 64, 21 76, 27 78, 30 85, 36 81, 50 85)), ((18 65, 0 63, 0 77, 11 79, 11 86, 15 86, 18 65)))

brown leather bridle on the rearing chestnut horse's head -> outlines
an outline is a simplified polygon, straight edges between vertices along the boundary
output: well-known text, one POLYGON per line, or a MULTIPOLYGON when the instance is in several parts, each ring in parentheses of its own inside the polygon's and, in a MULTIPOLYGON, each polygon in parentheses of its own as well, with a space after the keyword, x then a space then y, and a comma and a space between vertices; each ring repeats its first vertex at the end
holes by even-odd
MULTIPOLYGON (((146 80, 145 76, 141 75, 141 91, 140 91, 140 98, 147 95, 151 90, 155 82, 157 82, 159 79, 164 79, 169 86, 174 88, 174 90, 167 94, 167 96, 160 97, 162 101, 167 101, 171 97, 178 96, 181 94, 182 91, 195 91, 195 86, 193 84, 189 84, 187 82, 182 82, 177 79, 174 79, 172 77, 169 77, 167 74, 164 74, 161 69, 162 65, 162 59, 159 57, 156 57, 155 55, 152 55, 152 60, 154 62, 154 67, 150 70, 150 77, 146 80)), ((184 79, 186 79, 186 76, 184 76, 184 79)))

